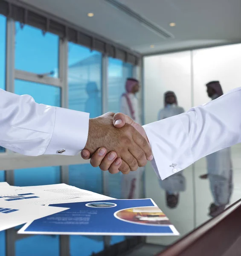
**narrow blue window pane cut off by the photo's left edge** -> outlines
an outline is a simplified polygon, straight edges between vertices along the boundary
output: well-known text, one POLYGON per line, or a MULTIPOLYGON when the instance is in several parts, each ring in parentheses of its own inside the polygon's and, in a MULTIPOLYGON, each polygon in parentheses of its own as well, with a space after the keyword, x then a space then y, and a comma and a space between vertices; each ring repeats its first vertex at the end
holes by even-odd
MULTIPOLYGON (((0 15, 0 89, 5 90, 5 60, 6 60, 6 17, 0 15)), ((5 148, 0 147, 0 152, 5 148)))

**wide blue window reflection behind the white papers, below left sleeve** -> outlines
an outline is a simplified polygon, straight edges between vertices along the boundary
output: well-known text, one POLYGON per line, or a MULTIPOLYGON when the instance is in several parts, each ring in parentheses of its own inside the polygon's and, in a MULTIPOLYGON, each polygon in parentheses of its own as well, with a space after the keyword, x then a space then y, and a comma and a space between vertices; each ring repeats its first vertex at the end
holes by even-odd
POLYGON ((40 186, 60 183, 60 166, 17 169, 14 171, 15 186, 40 186))

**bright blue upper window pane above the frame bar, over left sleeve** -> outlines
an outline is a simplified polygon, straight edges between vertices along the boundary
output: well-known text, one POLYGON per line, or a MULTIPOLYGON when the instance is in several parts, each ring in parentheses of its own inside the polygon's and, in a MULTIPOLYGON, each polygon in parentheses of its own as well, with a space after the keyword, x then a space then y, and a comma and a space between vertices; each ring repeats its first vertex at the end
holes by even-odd
POLYGON ((15 24, 15 68, 37 74, 53 71, 53 76, 58 76, 58 36, 15 24))

